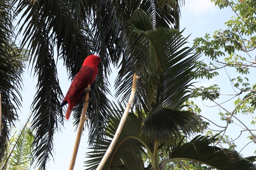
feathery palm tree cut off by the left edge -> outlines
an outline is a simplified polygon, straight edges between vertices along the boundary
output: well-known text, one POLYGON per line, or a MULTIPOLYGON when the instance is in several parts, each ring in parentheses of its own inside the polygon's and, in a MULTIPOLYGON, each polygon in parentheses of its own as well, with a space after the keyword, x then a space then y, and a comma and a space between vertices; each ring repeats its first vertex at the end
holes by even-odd
POLYGON ((7 149, 10 127, 18 119, 22 73, 27 50, 14 43, 11 0, 0 0, 0 161, 7 149))

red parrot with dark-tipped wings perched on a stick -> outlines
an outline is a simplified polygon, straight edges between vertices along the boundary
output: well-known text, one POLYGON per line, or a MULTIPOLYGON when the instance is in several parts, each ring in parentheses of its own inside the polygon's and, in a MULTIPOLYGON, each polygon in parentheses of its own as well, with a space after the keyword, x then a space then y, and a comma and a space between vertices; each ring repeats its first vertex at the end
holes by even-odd
POLYGON ((101 64, 101 58, 97 55, 89 55, 83 61, 83 65, 74 77, 70 88, 67 91, 61 107, 68 103, 66 119, 69 119, 74 106, 79 104, 85 94, 85 88, 90 84, 93 86, 95 77, 98 73, 98 66, 101 64))

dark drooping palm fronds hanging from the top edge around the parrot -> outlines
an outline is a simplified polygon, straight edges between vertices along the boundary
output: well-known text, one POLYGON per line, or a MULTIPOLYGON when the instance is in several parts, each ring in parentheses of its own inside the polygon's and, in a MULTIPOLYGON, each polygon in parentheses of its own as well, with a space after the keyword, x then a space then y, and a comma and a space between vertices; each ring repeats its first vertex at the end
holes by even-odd
MULTIPOLYGON (((54 49, 57 60, 63 60, 72 79, 81 67, 84 58, 98 53, 103 61, 103 69, 97 76, 97 88, 92 94, 89 106, 89 144, 101 138, 110 113, 108 75, 110 64, 115 66, 122 56, 133 55, 126 42, 130 39, 130 17, 138 7, 150 13, 153 26, 179 27, 178 0, 131 0, 131 1, 37 1, 14 0, 16 14, 20 15, 19 33, 22 33, 22 47, 28 44, 31 51, 30 64, 34 66, 34 76, 38 77, 37 93, 31 107, 36 162, 45 169, 52 157, 54 134, 63 124, 63 113, 59 108, 63 94, 59 87, 54 49), (68 21, 68 22, 67 22, 68 21), (51 83, 49 83, 51 82, 51 83), (93 108, 98 108, 97 110, 93 108), (47 109, 45 109, 47 108, 47 109)), ((164 31, 164 29, 162 30, 164 31)), ((123 60, 125 61, 125 60, 123 60)), ((126 62, 121 62, 121 68, 126 62)), ((123 77, 122 72, 119 77, 123 77)), ((121 90, 119 90, 121 91, 121 90)), ((82 103, 74 110, 75 126, 79 122, 82 103)))

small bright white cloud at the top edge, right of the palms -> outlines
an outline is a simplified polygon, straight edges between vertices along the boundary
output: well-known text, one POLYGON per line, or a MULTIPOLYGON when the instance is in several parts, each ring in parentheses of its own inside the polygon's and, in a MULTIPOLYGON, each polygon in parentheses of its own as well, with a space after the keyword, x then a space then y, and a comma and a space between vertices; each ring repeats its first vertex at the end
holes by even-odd
POLYGON ((194 15, 202 15, 205 13, 213 13, 216 7, 211 0, 185 0, 182 11, 193 13, 194 15))

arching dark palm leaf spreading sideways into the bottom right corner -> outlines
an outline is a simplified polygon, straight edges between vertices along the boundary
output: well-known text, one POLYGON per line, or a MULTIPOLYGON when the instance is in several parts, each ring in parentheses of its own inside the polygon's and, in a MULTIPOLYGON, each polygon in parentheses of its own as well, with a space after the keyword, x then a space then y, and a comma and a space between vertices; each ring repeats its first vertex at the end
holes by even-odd
POLYGON ((191 160, 204 163, 218 170, 253 170, 255 165, 252 163, 256 157, 241 157, 238 152, 221 149, 216 146, 209 146, 216 138, 209 138, 198 135, 190 142, 177 144, 169 153, 168 160, 160 163, 160 168, 166 163, 177 160, 191 160))

